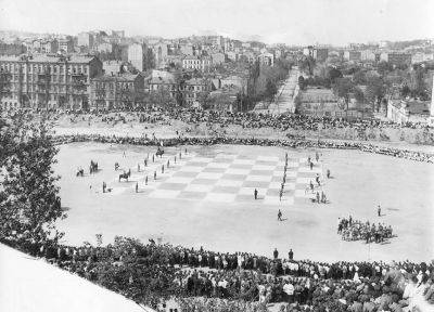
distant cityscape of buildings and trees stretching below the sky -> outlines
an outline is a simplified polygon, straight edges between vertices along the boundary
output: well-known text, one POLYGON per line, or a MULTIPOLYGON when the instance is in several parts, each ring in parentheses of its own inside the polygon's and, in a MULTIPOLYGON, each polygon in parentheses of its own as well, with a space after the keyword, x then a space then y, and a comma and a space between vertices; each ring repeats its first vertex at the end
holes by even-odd
POLYGON ((293 47, 224 36, 3 30, 0 55, 4 110, 161 105, 425 123, 434 110, 431 39, 293 47))

